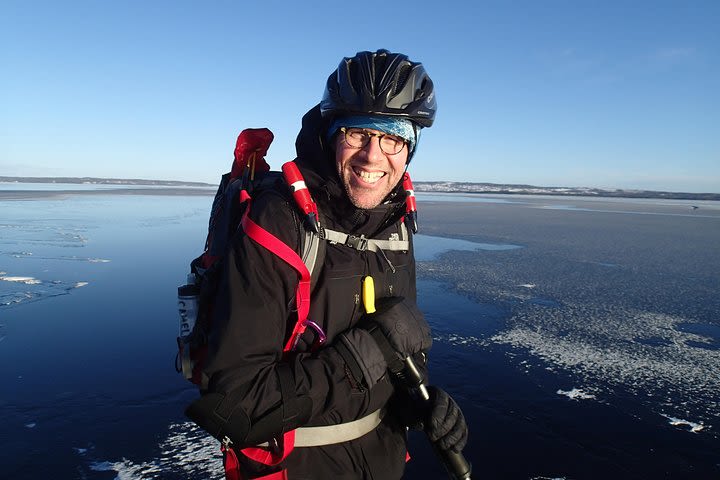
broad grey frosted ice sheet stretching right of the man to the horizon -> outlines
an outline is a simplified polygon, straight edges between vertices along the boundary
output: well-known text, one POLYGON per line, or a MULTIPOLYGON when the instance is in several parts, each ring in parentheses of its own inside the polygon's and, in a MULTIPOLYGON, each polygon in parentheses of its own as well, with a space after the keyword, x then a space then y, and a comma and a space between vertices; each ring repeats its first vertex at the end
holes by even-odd
POLYGON ((568 201, 420 205, 423 232, 524 247, 418 263, 419 278, 510 311, 490 338, 441 337, 478 355, 506 352, 553 393, 591 394, 602 400, 586 403, 643 421, 691 419, 699 433, 717 435, 720 204, 703 205, 700 217, 678 202, 578 200, 580 209, 568 209, 568 201))

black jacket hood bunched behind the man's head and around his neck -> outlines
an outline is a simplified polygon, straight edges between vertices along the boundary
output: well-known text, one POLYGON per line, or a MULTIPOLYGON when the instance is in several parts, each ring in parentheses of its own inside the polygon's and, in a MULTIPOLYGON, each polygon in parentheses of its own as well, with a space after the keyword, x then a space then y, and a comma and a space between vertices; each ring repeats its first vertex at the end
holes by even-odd
POLYGON ((405 196, 401 195, 404 193, 401 184, 398 184, 390 194, 392 200, 377 208, 364 210, 350 202, 335 168, 335 151, 325 138, 330 123, 330 119, 320 115, 318 104, 303 116, 302 128, 295 140, 297 151, 295 163, 318 204, 321 219, 323 212, 326 212, 326 215, 331 217, 331 223, 347 231, 355 230, 368 222, 375 224, 380 220, 377 225, 370 228, 374 230, 381 227, 381 224, 396 220, 404 212, 405 196), (371 218, 375 221, 371 221, 371 218))

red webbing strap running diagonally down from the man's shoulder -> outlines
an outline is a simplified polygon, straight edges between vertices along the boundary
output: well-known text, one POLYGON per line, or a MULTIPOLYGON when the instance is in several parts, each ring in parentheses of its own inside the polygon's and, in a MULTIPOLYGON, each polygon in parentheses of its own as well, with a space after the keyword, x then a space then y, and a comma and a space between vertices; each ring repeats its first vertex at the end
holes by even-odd
POLYGON ((293 332, 285 348, 283 348, 284 352, 288 352, 292 350, 295 345, 295 340, 305 331, 305 320, 307 320, 308 314, 310 313, 310 272, 295 250, 250 218, 250 200, 248 199, 247 201, 249 204, 247 209, 245 209, 245 214, 242 219, 242 226, 245 233, 248 237, 280 257, 300 275, 300 281, 298 282, 297 290, 295 290, 295 305, 298 318, 297 322, 295 322, 293 332))

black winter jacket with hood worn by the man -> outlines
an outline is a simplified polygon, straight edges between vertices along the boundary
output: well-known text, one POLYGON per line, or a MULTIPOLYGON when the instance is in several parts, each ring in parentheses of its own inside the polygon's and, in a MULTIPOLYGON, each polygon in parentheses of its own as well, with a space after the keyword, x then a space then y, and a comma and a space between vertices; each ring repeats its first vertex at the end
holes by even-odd
MULTIPOLYGON (((296 163, 318 204, 322 226, 377 239, 397 234, 405 211, 399 186, 391 194, 395 199, 372 210, 355 208, 336 173, 334 152, 323 146, 325 130, 319 108, 315 107, 303 118, 296 142, 296 163)), ((302 220, 287 193, 273 190, 260 194, 253 200, 250 215, 296 251, 300 249, 302 220)), ((296 272, 242 233, 226 257, 205 372, 210 378, 209 391, 241 391, 239 406, 253 424, 282 410, 289 401, 306 410, 299 423, 285 419, 284 425, 271 428, 273 434, 298 425, 356 420, 397 398, 387 378, 369 390, 363 388, 333 342, 338 334, 361 320, 361 280, 365 275, 372 275, 376 297, 415 300, 412 241, 408 252, 361 252, 344 245, 325 245, 309 319, 323 328, 327 342, 311 352, 308 346, 313 333, 306 333, 298 353, 285 357, 283 346, 296 320, 296 272), (292 373, 294 399, 282 394, 282 368, 292 373)), ((398 479, 405 463, 405 431, 390 411, 375 431, 358 440, 296 448, 284 467, 292 480, 398 479)), ((246 466, 263 471, 257 465, 246 466)))

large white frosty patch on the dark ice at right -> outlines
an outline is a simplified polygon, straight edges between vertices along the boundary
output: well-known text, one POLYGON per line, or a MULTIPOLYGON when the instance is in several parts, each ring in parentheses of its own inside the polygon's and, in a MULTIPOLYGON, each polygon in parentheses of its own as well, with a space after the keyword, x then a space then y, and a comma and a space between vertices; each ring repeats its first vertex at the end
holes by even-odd
POLYGON ((679 330, 685 323, 660 313, 565 304, 518 312, 490 341, 572 372, 595 392, 624 388, 677 416, 692 411, 707 430, 720 414, 720 351, 694 347, 707 337, 679 330), (568 321, 573 318, 583 320, 568 321), (648 338, 657 341, 643 341, 648 338))

